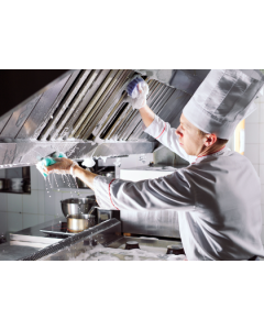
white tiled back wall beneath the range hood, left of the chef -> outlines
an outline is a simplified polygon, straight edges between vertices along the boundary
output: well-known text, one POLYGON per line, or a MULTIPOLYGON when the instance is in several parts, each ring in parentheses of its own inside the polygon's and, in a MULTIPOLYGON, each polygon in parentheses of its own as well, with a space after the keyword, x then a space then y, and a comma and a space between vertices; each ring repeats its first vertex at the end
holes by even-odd
MULTIPOLYGON (((144 163, 140 158, 140 155, 121 158, 121 168, 147 165, 153 161, 153 155, 142 157, 144 163)), ((101 162, 100 165, 111 166, 113 162, 116 160, 108 160, 106 164, 101 162)), ((0 170, 0 177, 6 177, 4 169, 0 170)), ((77 197, 76 189, 72 193, 70 189, 59 189, 59 191, 51 189, 35 166, 31 167, 31 195, 0 194, 0 234, 20 231, 63 217, 61 200, 77 197)), ((89 189, 79 191, 80 198, 92 194, 89 189)))

